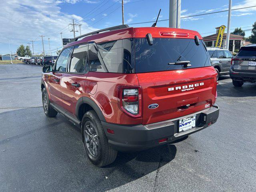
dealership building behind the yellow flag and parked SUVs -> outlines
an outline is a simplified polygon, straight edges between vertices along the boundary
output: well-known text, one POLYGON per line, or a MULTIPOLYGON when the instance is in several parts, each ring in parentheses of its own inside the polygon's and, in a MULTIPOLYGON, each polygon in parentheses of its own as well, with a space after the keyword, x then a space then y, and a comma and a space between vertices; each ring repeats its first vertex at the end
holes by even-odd
MULTIPOLYGON (((216 27, 216 34, 203 37, 204 43, 206 44, 207 47, 215 46, 216 39, 218 36, 218 31, 219 31, 219 27, 216 27)), ((227 44, 227 34, 224 33, 221 47, 226 48, 226 44, 227 44)), ((245 46, 244 36, 230 34, 228 50, 230 50, 231 52, 234 52, 234 50, 236 49, 239 50, 241 46, 245 46)))

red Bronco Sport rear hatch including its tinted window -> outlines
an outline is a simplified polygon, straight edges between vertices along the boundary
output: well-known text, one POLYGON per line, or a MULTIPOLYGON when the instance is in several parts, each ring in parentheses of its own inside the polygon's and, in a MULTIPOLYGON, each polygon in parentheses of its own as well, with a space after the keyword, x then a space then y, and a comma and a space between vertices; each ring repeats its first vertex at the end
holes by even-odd
POLYGON ((143 93, 142 124, 186 116, 215 102, 216 72, 202 40, 196 45, 194 39, 153 38, 150 46, 136 38, 135 72, 143 93), (174 64, 181 61, 191 66, 174 64))

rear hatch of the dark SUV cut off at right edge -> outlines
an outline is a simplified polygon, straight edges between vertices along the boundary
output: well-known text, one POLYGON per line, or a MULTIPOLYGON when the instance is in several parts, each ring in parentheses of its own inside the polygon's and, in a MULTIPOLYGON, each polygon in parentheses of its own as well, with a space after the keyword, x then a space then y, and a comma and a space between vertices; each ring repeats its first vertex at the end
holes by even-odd
POLYGON ((241 47, 232 65, 234 72, 256 73, 256 46, 241 47))

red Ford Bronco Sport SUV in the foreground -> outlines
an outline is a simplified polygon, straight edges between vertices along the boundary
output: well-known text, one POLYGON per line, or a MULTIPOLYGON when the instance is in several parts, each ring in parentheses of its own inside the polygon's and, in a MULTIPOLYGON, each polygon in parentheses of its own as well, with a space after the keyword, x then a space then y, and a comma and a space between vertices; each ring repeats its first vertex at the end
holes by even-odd
POLYGON ((71 40, 54 66, 43 67, 44 113, 80 126, 88 158, 106 166, 117 151, 168 144, 214 124, 216 76, 198 32, 116 26, 71 40))

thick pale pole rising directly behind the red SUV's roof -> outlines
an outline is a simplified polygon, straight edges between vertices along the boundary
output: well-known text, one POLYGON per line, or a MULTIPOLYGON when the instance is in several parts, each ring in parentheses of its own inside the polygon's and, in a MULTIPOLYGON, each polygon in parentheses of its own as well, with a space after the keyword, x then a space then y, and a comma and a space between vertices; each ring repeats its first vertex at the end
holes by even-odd
POLYGON ((181 0, 170 0, 169 27, 180 28, 181 0))

